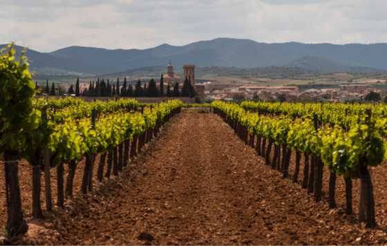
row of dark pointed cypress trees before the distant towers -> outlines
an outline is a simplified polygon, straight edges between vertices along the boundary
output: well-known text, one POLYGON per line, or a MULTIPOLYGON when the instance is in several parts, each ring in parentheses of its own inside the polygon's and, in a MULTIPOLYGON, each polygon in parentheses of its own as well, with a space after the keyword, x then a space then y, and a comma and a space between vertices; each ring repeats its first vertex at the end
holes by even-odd
POLYGON ((138 82, 133 86, 126 82, 126 77, 124 77, 124 82, 122 86, 120 85, 120 79, 117 78, 117 82, 110 82, 109 79, 97 79, 97 82, 90 82, 88 88, 84 91, 79 89, 79 78, 75 84, 68 87, 68 94, 75 94, 76 96, 85 96, 85 97, 194 97, 196 95, 195 88, 191 86, 189 79, 185 78, 182 89, 180 91, 179 83, 176 82, 171 88, 171 85, 168 84, 167 91, 164 90, 164 78, 163 75, 160 77, 159 88, 156 86, 155 79, 151 79, 149 83, 144 83, 138 79, 138 82))

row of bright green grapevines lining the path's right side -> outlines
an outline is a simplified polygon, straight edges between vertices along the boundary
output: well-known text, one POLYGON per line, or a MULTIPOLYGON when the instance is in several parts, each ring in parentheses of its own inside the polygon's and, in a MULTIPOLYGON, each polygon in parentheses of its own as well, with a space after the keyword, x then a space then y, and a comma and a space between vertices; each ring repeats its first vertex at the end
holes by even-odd
POLYGON ((366 222, 368 227, 376 226, 368 166, 383 162, 385 144, 377 129, 377 119, 370 110, 366 110, 364 119, 353 121, 344 129, 339 125, 322 124, 316 115, 290 117, 249 112, 238 104, 226 102, 213 102, 211 105, 214 113, 220 115, 246 144, 255 147, 267 165, 281 171, 283 178, 289 176, 290 156, 295 151, 296 167, 292 180, 297 182, 303 155, 305 173, 302 185, 314 193, 317 202, 321 200, 323 165, 330 170, 330 207, 336 207, 334 191, 337 175, 345 178, 348 214, 352 214, 352 179, 359 178, 359 222, 366 222))

